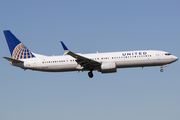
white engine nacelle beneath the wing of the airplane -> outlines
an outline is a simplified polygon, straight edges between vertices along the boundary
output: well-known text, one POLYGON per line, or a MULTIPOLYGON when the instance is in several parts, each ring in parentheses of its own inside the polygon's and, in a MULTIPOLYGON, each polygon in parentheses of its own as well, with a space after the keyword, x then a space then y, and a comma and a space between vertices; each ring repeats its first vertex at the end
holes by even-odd
POLYGON ((103 62, 101 64, 101 73, 114 73, 117 72, 116 63, 114 62, 103 62))

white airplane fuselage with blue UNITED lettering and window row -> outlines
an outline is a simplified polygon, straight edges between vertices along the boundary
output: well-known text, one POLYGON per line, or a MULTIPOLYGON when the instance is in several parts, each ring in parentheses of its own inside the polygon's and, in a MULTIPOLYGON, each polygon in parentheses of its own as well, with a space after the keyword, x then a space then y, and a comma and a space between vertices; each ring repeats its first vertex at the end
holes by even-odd
MULTIPOLYGON (((141 50, 109 53, 78 54, 100 63, 115 63, 116 68, 163 66, 175 62, 178 58, 164 51, 141 50)), ((45 72, 88 71, 70 55, 42 56, 21 59, 23 64, 11 63, 23 69, 45 72)), ((94 69, 95 70, 95 69, 94 69)), ((96 69, 100 71, 99 69, 96 69)))

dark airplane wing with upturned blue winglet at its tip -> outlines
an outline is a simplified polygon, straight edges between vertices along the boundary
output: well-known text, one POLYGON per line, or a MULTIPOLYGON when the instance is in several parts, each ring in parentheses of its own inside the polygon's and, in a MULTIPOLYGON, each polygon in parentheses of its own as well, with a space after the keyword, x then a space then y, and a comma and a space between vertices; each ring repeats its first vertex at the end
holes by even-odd
POLYGON ((65 44, 61 41, 65 54, 68 54, 76 59, 76 62, 81 65, 84 69, 99 69, 101 63, 90 58, 75 54, 71 52, 65 44))

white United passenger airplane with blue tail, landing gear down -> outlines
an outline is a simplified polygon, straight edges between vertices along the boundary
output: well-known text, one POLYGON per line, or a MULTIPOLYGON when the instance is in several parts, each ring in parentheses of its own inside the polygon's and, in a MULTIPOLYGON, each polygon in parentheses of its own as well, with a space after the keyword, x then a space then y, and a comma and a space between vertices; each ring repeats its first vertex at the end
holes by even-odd
POLYGON ((45 56, 31 52, 10 30, 3 32, 11 54, 11 58, 3 58, 8 60, 12 66, 24 70, 43 72, 89 71, 88 76, 92 78, 93 71, 115 73, 117 68, 161 66, 160 71, 163 72, 163 67, 178 60, 178 57, 169 52, 159 50, 74 53, 62 41, 60 42, 65 51, 63 55, 45 56))

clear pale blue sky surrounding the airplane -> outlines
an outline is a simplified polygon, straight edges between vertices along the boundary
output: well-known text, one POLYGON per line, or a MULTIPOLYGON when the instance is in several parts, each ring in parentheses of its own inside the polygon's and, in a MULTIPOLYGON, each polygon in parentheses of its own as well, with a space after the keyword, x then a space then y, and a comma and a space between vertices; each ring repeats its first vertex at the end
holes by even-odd
MULTIPOLYGON (((1 0, 3 30, 32 52, 163 50, 180 57, 179 0, 1 0)), ((180 62, 117 73, 24 71, 1 58, 0 120, 180 120, 180 62)))

